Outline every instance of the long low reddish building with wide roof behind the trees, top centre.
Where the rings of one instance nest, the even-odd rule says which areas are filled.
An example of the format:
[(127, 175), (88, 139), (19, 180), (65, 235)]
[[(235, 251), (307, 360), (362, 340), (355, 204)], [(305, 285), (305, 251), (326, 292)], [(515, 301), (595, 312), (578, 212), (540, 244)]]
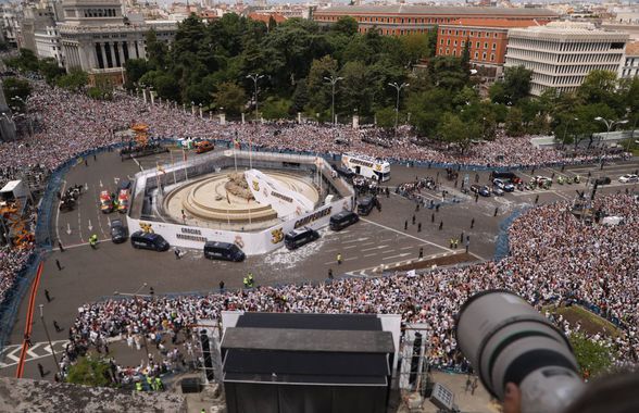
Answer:
[(429, 5), (335, 5), (317, 9), (313, 20), (320, 24), (334, 24), (343, 16), (358, 21), (359, 32), (375, 27), (383, 35), (401, 36), (426, 33), (437, 25), (451, 24), (460, 18), (492, 18), (505, 21), (551, 22), (559, 18), (555, 12), (546, 9), (524, 8), (468, 8)]

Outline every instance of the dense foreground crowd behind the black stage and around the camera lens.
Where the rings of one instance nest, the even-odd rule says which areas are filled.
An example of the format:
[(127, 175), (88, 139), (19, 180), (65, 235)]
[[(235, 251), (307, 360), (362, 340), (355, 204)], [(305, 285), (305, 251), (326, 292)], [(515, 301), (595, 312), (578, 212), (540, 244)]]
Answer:
[[(430, 362), (456, 368), (463, 358), (453, 336), (454, 315), (473, 293), (489, 288), (515, 291), (538, 309), (549, 303), (596, 306), (621, 326), (605, 340), (618, 363), (636, 363), (639, 350), (639, 202), (630, 196), (601, 197), (596, 208), (625, 224), (589, 225), (568, 202), (530, 210), (510, 229), (511, 254), (500, 262), (443, 268), (409, 277), (342, 278), (320, 285), (259, 287), (206, 297), (134, 299), (88, 303), (80, 309), (78, 337), (158, 334), (218, 318), (224, 310), (311, 313), (398, 313), (423, 323)], [(569, 330), (563, 320), (557, 325)]]

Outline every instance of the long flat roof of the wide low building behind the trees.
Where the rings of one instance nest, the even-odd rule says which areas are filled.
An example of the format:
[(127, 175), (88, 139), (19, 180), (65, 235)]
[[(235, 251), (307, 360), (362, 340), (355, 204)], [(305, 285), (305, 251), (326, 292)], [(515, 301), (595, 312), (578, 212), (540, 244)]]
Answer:
[(437, 7), (437, 5), (334, 5), (318, 9), (320, 13), (335, 14), (428, 14), (428, 15), (453, 15), (453, 16), (481, 16), (494, 17), (499, 15), (511, 16), (536, 16), (536, 17), (559, 17), (559, 14), (548, 9), (524, 9), (524, 8), (469, 8), (469, 7)]

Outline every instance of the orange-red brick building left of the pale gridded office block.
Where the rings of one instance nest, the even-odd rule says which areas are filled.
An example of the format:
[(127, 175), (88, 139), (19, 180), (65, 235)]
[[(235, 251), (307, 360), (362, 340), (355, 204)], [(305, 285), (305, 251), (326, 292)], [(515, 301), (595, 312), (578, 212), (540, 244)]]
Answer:
[(501, 76), (509, 28), (546, 24), (536, 20), (459, 18), (437, 28), (436, 55), (462, 57), (468, 45), (471, 65), (483, 77)]

